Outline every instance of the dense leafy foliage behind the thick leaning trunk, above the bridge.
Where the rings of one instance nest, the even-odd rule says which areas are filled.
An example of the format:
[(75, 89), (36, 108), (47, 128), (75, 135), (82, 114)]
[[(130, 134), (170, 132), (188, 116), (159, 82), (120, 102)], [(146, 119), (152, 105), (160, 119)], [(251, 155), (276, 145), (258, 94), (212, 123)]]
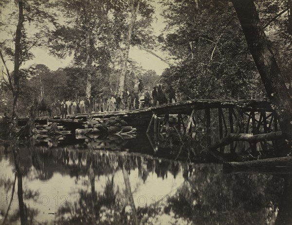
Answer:
[[(287, 7), (287, 1), (281, 2), (277, 4), (277, 1), (270, 0), (258, 3), (262, 9), (263, 23)], [(216, 1), (214, 4), (212, 1), (169, 0), (162, 3), (166, 27), (159, 40), (163, 44), (162, 50), (170, 52), (170, 59), (177, 61), (176, 66), (164, 72), (164, 82), (175, 85), (185, 99), (186, 96), (221, 99), (265, 97), (230, 2)], [(268, 36), (274, 39), (279, 66), (288, 79), (291, 77), (287, 73), (291, 71), (291, 51), (286, 51), (289, 46), (287, 18), (280, 21)]]

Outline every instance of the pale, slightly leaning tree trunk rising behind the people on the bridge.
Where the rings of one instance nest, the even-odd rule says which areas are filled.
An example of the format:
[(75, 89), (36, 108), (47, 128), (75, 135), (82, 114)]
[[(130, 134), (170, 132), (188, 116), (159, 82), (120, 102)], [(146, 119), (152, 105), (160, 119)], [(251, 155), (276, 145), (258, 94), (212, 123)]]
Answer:
[(134, 6), (134, 0), (131, 0), (131, 20), (128, 26), (128, 36), (127, 40), (125, 42), (125, 50), (123, 52), (123, 58), (122, 58), (122, 69), (121, 69), (121, 77), (120, 77), (120, 86), (119, 86), (119, 95), (122, 97), (124, 92), (124, 86), (125, 86), (125, 78), (127, 73), (127, 62), (128, 62), (128, 56), (129, 56), (129, 50), (130, 50), (130, 44), (131, 44), (131, 36), (133, 27), (137, 18), (137, 15), (139, 13), (140, 3), (142, 0), (138, 0), (137, 6)]

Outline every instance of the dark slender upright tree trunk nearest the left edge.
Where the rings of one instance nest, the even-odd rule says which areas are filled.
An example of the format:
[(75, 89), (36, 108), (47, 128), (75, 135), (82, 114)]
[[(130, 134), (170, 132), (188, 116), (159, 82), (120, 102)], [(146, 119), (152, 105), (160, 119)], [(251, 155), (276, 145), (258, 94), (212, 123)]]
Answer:
[(16, 118), (16, 124), (18, 124), (18, 98), (19, 98), (19, 67), (20, 67), (20, 39), (21, 39), (21, 28), (24, 22), (23, 16), (23, 2), (18, 0), (18, 24), (15, 35), (15, 59), (14, 59), (14, 88), (13, 88), (13, 112), (12, 117)]

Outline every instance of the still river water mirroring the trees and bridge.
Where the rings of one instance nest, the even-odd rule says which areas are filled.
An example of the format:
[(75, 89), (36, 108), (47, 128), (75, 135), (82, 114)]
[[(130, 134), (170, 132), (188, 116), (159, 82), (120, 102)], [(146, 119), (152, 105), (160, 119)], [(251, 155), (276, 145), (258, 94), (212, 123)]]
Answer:
[(141, 132), (132, 139), (66, 136), (4, 143), (0, 224), (291, 221), (291, 174), (223, 173), (199, 147), (172, 139)]

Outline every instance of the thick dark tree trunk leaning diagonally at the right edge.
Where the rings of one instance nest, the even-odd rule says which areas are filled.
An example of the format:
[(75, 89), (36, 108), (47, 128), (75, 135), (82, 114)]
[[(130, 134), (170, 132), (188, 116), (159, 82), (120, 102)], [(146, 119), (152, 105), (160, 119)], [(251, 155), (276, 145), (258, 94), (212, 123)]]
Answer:
[(283, 133), (292, 135), (292, 101), (252, 0), (232, 0), (248, 48), (267, 94), (276, 110)]

